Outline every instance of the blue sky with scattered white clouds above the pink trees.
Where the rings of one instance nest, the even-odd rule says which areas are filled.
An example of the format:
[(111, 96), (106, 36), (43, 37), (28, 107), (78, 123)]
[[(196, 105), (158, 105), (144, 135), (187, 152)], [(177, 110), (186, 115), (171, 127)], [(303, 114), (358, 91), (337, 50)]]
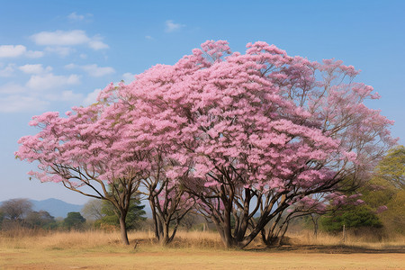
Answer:
[(174, 64), (205, 40), (233, 51), (257, 40), (311, 60), (341, 59), (382, 99), (367, 103), (405, 138), (405, 1), (0, 0), (0, 201), (84, 203), (58, 184), (28, 180), (14, 159), (32, 115), (92, 103), (99, 89), (156, 64)]

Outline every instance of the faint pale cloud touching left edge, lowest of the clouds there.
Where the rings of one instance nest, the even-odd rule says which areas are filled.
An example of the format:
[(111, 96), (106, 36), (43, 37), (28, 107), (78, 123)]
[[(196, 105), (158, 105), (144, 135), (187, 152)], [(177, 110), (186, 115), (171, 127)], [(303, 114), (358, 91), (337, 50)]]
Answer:
[(48, 104), (35, 96), (9, 95), (0, 97), (0, 112), (42, 111)]

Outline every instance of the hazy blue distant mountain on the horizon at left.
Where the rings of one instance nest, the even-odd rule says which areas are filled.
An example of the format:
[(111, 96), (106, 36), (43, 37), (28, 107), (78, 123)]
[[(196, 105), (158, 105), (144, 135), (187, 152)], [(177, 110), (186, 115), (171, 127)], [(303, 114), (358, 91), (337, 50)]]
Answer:
[(81, 211), (83, 205), (72, 204), (60, 201), (58, 199), (47, 199), (43, 201), (30, 200), (33, 211), (48, 211), (55, 218), (66, 218), (69, 211)]

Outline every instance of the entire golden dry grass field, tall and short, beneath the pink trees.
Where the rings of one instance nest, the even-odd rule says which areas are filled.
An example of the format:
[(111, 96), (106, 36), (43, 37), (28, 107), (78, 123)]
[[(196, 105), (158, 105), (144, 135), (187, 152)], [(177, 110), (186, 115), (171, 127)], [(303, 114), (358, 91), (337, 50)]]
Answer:
[[(310, 234), (292, 244), (245, 250), (223, 248), (214, 232), (182, 232), (169, 247), (150, 232), (130, 233), (130, 247), (117, 232), (14, 231), (0, 235), (0, 269), (405, 269), (405, 238), (369, 242)], [(135, 243), (137, 247), (134, 248)]]

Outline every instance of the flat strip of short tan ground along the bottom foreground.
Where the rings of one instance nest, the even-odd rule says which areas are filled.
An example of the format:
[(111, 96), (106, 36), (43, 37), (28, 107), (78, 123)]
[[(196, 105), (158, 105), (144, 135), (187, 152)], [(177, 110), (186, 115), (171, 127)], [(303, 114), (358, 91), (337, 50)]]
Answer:
[(405, 269), (403, 250), (0, 250), (4, 269)]

